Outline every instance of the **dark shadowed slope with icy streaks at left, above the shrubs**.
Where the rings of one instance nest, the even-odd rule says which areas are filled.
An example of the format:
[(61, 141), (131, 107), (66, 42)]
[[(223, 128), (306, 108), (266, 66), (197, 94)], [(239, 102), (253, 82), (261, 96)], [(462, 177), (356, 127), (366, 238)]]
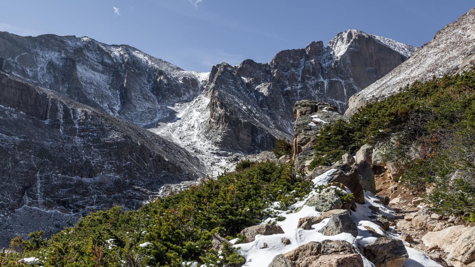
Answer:
[(90, 210), (138, 208), (203, 169), (146, 129), (0, 71), (0, 247)]

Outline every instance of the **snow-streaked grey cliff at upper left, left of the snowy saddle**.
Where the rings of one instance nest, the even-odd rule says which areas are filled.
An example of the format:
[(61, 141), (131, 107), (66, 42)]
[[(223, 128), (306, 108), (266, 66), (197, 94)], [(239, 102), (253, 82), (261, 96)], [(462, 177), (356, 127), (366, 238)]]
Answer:
[(87, 37), (0, 32), (0, 51), (3, 71), (147, 128), (201, 92), (199, 73)]

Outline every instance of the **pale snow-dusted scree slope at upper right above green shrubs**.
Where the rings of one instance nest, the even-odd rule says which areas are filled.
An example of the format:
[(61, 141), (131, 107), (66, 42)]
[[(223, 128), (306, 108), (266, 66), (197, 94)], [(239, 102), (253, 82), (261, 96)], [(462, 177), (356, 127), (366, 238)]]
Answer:
[(350, 98), (345, 115), (350, 116), (369, 101), (383, 99), (416, 80), (453, 74), (475, 60), (475, 8), (439, 30), (434, 39), (407, 61)]

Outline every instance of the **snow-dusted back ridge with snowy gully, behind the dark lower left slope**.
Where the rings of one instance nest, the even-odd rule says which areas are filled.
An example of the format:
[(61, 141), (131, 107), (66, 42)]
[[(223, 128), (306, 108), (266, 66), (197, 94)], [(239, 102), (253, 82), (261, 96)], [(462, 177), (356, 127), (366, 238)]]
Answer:
[(184, 71), (126, 45), (91, 38), (0, 33), (1, 69), (179, 144), (223, 171), (242, 154), (292, 138), (293, 105), (316, 99), (346, 109), (348, 98), (415, 50), (359, 30), (327, 45), (279, 52), (270, 63), (219, 64)]

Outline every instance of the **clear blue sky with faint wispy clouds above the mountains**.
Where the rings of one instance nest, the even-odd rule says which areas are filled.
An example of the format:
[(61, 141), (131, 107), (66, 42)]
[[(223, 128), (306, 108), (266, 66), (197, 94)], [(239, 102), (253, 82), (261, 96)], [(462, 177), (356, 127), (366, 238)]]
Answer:
[(269, 62), (345, 29), (421, 46), (473, 0), (3, 0), (0, 30), (128, 44), (186, 70)]

